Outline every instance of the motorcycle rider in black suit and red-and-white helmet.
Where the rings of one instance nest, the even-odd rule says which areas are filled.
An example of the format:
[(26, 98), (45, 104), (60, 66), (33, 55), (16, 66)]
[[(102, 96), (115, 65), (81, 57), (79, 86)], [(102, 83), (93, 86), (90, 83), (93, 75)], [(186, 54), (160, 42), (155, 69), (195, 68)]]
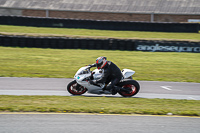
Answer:
[(97, 83), (105, 83), (109, 84), (105, 88), (106, 90), (110, 90), (112, 95), (115, 95), (120, 87), (117, 87), (116, 84), (122, 79), (121, 70), (111, 61), (107, 61), (107, 58), (102, 56), (96, 59), (96, 63), (90, 65), (91, 67), (97, 67), (97, 69), (103, 69), (102, 77), (98, 80), (90, 80), (90, 84), (97, 84)]

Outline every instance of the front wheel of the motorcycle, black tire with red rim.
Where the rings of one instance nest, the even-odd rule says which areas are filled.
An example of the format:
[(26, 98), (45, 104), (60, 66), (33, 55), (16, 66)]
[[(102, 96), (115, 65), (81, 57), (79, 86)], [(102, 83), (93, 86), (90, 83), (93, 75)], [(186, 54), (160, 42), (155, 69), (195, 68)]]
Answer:
[(87, 91), (87, 88), (77, 84), (74, 80), (67, 85), (67, 91), (72, 95), (82, 95)]

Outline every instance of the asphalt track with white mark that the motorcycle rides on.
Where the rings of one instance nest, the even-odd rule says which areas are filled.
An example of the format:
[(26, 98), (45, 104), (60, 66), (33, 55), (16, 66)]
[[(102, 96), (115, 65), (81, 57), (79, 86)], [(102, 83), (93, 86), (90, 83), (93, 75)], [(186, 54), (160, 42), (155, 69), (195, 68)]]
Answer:
[[(0, 95), (58, 95), (71, 96), (66, 91), (73, 79), (0, 77)], [(139, 98), (200, 100), (200, 83), (138, 81)], [(111, 96), (85, 93), (84, 96)]]

